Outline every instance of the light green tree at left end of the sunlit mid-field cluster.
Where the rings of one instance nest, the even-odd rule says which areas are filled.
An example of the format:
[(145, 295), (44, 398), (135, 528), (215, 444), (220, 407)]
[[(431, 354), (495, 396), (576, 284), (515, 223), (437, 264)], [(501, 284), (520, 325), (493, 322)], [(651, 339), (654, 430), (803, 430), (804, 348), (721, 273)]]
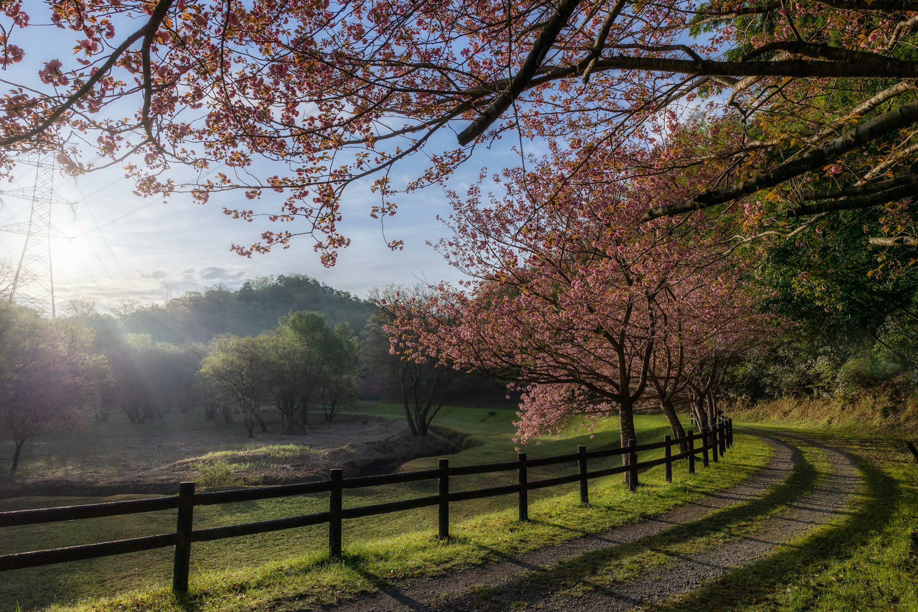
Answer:
[(271, 391), (274, 361), (264, 336), (222, 336), (214, 339), (212, 350), (201, 362), (201, 373), (231, 397), (242, 415), (249, 438), (254, 438), (255, 422), (267, 431), (259, 414)]

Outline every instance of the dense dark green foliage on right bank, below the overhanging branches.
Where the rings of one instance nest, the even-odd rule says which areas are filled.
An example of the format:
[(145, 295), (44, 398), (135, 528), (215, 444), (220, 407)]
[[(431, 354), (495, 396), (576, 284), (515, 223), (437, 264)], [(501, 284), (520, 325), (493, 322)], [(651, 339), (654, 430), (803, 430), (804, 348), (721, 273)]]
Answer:
[(784, 330), (733, 366), (728, 394), (850, 396), (913, 370), (918, 269), (878, 267), (865, 228), (880, 215), (842, 211), (820, 220), (817, 232), (765, 250), (756, 274), (762, 308), (782, 317)]

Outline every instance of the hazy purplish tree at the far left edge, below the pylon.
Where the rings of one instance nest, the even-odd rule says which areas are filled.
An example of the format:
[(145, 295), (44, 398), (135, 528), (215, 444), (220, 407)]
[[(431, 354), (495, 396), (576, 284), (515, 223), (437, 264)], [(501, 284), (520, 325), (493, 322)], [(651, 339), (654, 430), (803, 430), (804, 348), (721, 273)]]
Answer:
[(0, 306), (0, 428), (14, 445), (11, 474), (28, 440), (73, 428), (104, 394), (108, 364), (91, 347), (92, 330), (78, 322)]

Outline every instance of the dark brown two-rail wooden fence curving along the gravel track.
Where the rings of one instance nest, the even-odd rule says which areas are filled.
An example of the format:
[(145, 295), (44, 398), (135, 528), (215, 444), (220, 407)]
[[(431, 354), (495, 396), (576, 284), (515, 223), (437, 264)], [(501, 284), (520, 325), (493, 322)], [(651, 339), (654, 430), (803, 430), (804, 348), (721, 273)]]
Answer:
[[(700, 442), (698, 448), (695, 441)], [(688, 451), (673, 454), (672, 447), (687, 443)], [(544, 457), (542, 459), (527, 459), (526, 453), (517, 455), (517, 461), (504, 463), (487, 463), (481, 465), (464, 465), (450, 467), (448, 459), (441, 459), (439, 467), (435, 470), (422, 470), (420, 472), (392, 473), (379, 476), (359, 476), (355, 478), (342, 478), (341, 469), (330, 470), (329, 479), (314, 483), (282, 484), (278, 486), (263, 486), (251, 489), (233, 491), (218, 491), (212, 493), (195, 493), (194, 483), (182, 483), (178, 487), (178, 495), (168, 497), (154, 497), (152, 499), (139, 499), (129, 502), (111, 502), (107, 504), (89, 504), (85, 506), (64, 506), (56, 508), (40, 508), (36, 510), (17, 510), (13, 512), (0, 512), (0, 527), (13, 527), (17, 525), (37, 525), (39, 523), (52, 523), (78, 518), (114, 517), (125, 514), (138, 514), (141, 512), (155, 512), (157, 510), (178, 509), (175, 532), (163, 533), (158, 536), (143, 538), (130, 538), (100, 542), (97, 544), (83, 544), (67, 548), (51, 549), (47, 551), (17, 552), (0, 556), (0, 571), (16, 570), (53, 563), (79, 561), (82, 559), (95, 559), (126, 552), (150, 551), (169, 546), (175, 547), (173, 565), (173, 590), (185, 593), (188, 590), (188, 570), (191, 562), (191, 545), (193, 542), (209, 540), (222, 540), (224, 538), (238, 538), (255, 533), (266, 533), (279, 529), (292, 529), (307, 525), (329, 524), (329, 552), (332, 557), (341, 555), (341, 524), (345, 518), (369, 517), (372, 515), (387, 514), (412, 508), (426, 506), (439, 506), (439, 536), (448, 538), (450, 533), (450, 503), (461, 502), (468, 499), (493, 497), (496, 495), (519, 495), (520, 520), (528, 520), (529, 502), (528, 492), (533, 489), (542, 489), (559, 484), (580, 483), (580, 502), (588, 504), (588, 481), (591, 478), (600, 478), (615, 473), (628, 473), (628, 484), (632, 491), (638, 486), (638, 471), (656, 465), (666, 465), (666, 481), (672, 482), (673, 462), (680, 459), (689, 460), (689, 473), (695, 473), (696, 455), (701, 456), (701, 461), (707, 467), (709, 451), (711, 459), (716, 462), (723, 456), (724, 451), (733, 445), (733, 420), (724, 419), (717, 423), (710, 431), (701, 430), (696, 436), (692, 431), (685, 438), (671, 440), (665, 436), (662, 442), (650, 444), (637, 444), (630, 440), (628, 446), (621, 449), (606, 451), (587, 451), (587, 447), (577, 447), (577, 452), (569, 455)], [(665, 456), (653, 461), (639, 462), (638, 453), (664, 449)], [(588, 471), (588, 461), (615, 455), (628, 455), (628, 461), (622, 465), (603, 470)], [(622, 457), (622, 460), (624, 457)], [(556, 463), (577, 462), (577, 473), (530, 481), (528, 469)], [(450, 476), (462, 476), (477, 473), (497, 473), (515, 470), (518, 474), (518, 484), (492, 486), (484, 489), (450, 493)], [(438, 480), (437, 495), (418, 497), (397, 502), (386, 502), (372, 506), (359, 506), (343, 508), (341, 497), (344, 489), (355, 489), (367, 486), (380, 486), (383, 484), (412, 483), (422, 480)], [(214, 527), (208, 529), (194, 529), (195, 506), (211, 506), (214, 504), (229, 504), (257, 499), (271, 499), (273, 497), (287, 497), (291, 495), (306, 495), (328, 492), (329, 510), (315, 514), (301, 515), (298, 517), (275, 518), (254, 523), (242, 523), (227, 527)]]

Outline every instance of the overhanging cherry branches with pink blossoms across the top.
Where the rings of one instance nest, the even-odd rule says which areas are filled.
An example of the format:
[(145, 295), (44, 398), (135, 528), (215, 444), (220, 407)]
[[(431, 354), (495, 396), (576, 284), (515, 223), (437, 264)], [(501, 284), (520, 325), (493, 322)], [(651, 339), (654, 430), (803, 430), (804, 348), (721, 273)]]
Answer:
[[(754, 222), (751, 236), (787, 235), (839, 209), (899, 202), (915, 184), (910, 0), (0, 8), (0, 63), (11, 73), (3, 172), (15, 172), (18, 154), (50, 150), (74, 175), (126, 167), (140, 195), (270, 199), (258, 211), (225, 210), (281, 224), (237, 245), (242, 254), (311, 234), (331, 264), (348, 244), (340, 202), (354, 182), (374, 182), (371, 212), (385, 217), (398, 192), (442, 183), (476, 147), (504, 136), (589, 156), (652, 138), (642, 133), (649, 119), (692, 108), (711, 116), (690, 134), (697, 150), (648, 161), (648, 172), (720, 172), (630, 222), (717, 206)], [(73, 38), (72, 57), (48, 50), (50, 32)], [(399, 183), (391, 171), (421, 152), (424, 163)], [(297, 219), (305, 223), (285, 225)], [(877, 238), (888, 248), (907, 241)]]

